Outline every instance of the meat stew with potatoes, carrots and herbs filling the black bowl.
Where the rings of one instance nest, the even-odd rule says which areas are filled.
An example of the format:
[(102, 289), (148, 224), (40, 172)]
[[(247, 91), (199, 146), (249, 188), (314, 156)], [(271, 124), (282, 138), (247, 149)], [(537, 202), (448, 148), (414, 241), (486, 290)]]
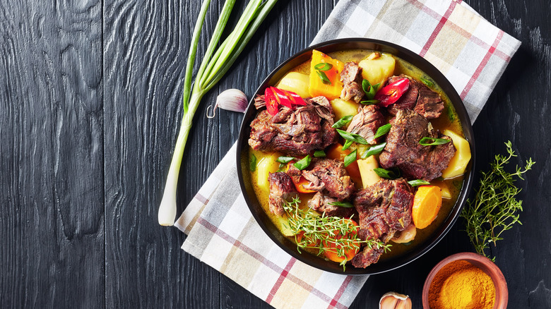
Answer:
[(254, 192), (299, 252), (365, 268), (420, 246), (451, 212), (469, 143), (411, 63), (314, 50), (254, 104)]

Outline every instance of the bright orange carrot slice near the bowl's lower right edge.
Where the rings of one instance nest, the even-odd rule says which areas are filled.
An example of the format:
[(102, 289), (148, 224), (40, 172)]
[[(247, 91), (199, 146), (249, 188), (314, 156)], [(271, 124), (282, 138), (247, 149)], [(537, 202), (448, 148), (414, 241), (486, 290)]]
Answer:
[(442, 207), (442, 193), (439, 186), (420, 186), (413, 199), (411, 217), (417, 229), (425, 229), (434, 219)]

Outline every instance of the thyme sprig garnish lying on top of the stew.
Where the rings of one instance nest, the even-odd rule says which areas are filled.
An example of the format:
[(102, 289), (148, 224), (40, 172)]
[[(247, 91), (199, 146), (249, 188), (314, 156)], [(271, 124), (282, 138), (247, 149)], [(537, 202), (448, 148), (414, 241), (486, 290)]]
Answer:
[[(295, 234), (299, 253), (301, 248), (317, 249), (317, 255), (323, 255), (326, 250), (336, 249), (339, 257), (345, 257), (346, 251), (359, 250), (362, 243), (369, 248), (373, 248), (372, 246), (384, 248), (384, 252), (390, 250), (391, 245), (377, 239), (360, 240), (357, 237), (359, 226), (352, 224), (349, 219), (328, 217), (325, 212), (320, 215), (309, 208), (302, 210), (298, 198), (284, 202), (283, 209), (289, 219), (288, 227), (292, 234)], [(350, 219), (352, 217), (353, 214)], [(340, 262), (343, 271), (346, 262), (346, 258)]]

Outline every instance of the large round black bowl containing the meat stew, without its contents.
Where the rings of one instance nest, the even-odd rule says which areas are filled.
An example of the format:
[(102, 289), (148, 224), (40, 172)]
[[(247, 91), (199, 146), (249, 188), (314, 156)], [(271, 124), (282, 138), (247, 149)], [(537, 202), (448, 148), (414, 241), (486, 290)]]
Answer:
[(251, 132), (251, 128), (249, 125), (256, 116), (256, 109), (254, 108), (253, 104), (254, 97), (259, 94), (262, 95), (266, 87), (270, 85), (275, 85), (275, 83), (283, 78), (285, 73), (287, 73), (291, 68), (294, 68), (300, 63), (304, 63), (304, 61), (309, 60), (312, 56), (312, 49), (319, 50), (320, 52), (324, 52), (326, 54), (331, 52), (338, 52), (341, 50), (368, 49), (386, 52), (398, 56), (399, 58), (412, 63), (414, 66), (417, 66), (417, 68), (420, 68), (422, 71), (427, 73), (427, 75), (429, 75), (442, 88), (442, 90), (446, 92), (446, 95), (448, 95), (452, 104), (454, 104), (457, 115), (461, 120), (461, 124), (463, 126), (463, 134), (465, 135), (466, 140), (468, 140), (470, 143), (470, 151), (472, 157), (470, 159), (469, 166), (467, 167), (468, 173), (465, 175), (465, 180), (463, 182), (461, 193), (459, 193), (459, 197), (449, 216), (445, 219), (444, 223), (442, 223), (442, 225), (439, 226), (436, 231), (434, 231), (434, 234), (427, 238), (425, 242), (422, 243), (422, 245), (415, 247), (415, 249), (413, 249), (412, 251), (393, 259), (381, 260), (376, 264), (369, 265), (369, 267), (365, 269), (349, 266), (346, 267), (344, 273), (378, 274), (406, 265), (409, 262), (417, 259), (421, 255), (427, 253), (428, 250), (430, 250), (442, 238), (444, 238), (446, 233), (451, 229), (451, 226), (454, 225), (457, 218), (459, 217), (459, 214), (461, 213), (463, 205), (467, 200), (467, 195), (473, 182), (475, 143), (473, 138), (473, 127), (470, 125), (469, 116), (465, 107), (463, 106), (461, 98), (457, 94), (456, 90), (454, 90), (454, 87), (452, 87), (451, 83), (449, 83), (449, 81), (444, 77), (442, 73), (440, 73), (440, 71), (438, 71), (437, 68), (432, 66), (432, 64), (423, 59), (421, 56), (415, 54), (414, 52), (411, 52), (408, 49), (405, 49), (404, 47), (400, 47), (389, 42), (363, 38), (328, 41), (316, 44), (312, 47), (308, 47), (302, 52), (295, 54), (295, 56), (292, 56), (287, 61), (281, 63), (280, 66), (275, 68), (275, 70), (273, 70), (273, 72), (268, 75), (268, 77), (260, 85), (259, 89), (256, 90), (256, 93), (251, 98), (251, 102), (249, 102), (249, 107), (247, 108), (247, 111), (245, 111), (245, 116), (241, 125), (239, 140), (237, 141), (237, 174), (239, 174), (239, 184), (241, 186), (244, 198), (247, 201), (247, 205), (249, 205), (249, 209), (256, 219), (256, 222), (258, 222), (261, 228), (266, 232), (266, 234), (268, 234), (268, 236), (287, 253), (289, 253), (293, 257), (296, 257), (297, 260), (300, 260), (312, 267), (316, 267), (328, 272), (343, 274), (343, 267), (338, 265), (338, 263), (326, 261), (321, 257), (317, 257), (315, 255), (311, 255), (305, 252), (300, 254), (297, 251), (297, 246), (295, 245), (295, 243), (292, 243), (292, 241), (289, 241), (287, 238), (285, 238), (285, 236), (280, 234), (278, 229), (274, 226), (274, 224), (271, 222), (271, 220), (259, 204), (259, 200), (256, 198), (253, 187), (251, 185), (251, 176), (249, 174), (249, 144), (247, 141)]

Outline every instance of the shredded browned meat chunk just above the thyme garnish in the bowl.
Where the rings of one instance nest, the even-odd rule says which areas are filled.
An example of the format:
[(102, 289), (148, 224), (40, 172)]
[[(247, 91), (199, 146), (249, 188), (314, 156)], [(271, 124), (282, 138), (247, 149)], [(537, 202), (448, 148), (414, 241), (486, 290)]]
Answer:
[(309, 169), (302, 171), (302, 176), (311, 182), (304, 188), (321, 191), (339, 201), (348, 198), (355, 189), (343, 162), (333, 159), (314, 158)]

